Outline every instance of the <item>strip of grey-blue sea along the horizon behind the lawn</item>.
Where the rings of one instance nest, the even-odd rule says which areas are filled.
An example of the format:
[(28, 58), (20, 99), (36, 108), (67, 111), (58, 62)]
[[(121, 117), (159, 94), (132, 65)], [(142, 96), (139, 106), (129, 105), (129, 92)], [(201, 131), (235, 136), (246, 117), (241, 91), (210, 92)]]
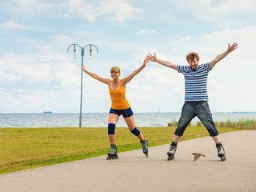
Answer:
[[(134, 113), (135, 124), (138, 127), (167, 126), (170, 122), (178, 122), (181, 113)], [(232, 112), (213, 113), (214, 122), (236, 122), (238, 120), (256, 119), (256, 112)], [(196, 117), (192, 120), (192, 126), (199, 122)], [(107, 127), (108, 113), (84, 113), (82, 114), (82, 127)], [(76, 113), (48, 113), (48, 114), (1, 114), (1, 127), (78, 127), (79, 114)], [(126, 122), (119, 118), (117, 126), (127, 127)]]

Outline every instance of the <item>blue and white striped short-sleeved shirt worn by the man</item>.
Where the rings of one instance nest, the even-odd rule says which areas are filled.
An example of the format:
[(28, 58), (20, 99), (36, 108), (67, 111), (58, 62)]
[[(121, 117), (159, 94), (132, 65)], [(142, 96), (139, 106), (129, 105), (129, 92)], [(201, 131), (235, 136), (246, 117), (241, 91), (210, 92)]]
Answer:
[(198, 65), (197, 70), (190, 66), (178, 66), (178, 73), (185, 78), (185, 101), (208, 101), (207, 78), (210, 71), (210, 62)]

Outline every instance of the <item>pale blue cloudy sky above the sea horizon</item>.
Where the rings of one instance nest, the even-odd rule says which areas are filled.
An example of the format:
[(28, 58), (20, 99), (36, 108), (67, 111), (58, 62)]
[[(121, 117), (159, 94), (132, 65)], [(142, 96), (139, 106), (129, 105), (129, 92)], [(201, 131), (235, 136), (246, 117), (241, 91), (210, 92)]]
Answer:
[[(110, 78), (119, 66), (125, 78), (147, 54), (188, 65), (194, 51), (202, 64), (237, 42), (210, 70), (210, 110), (256, 111), (254, 0), (0, 0), (0, 16), (0, 113), (79, 113), (73, 43), (97, 46), (94, 59), (84, 57), (87, 70)], [(109, 112), (108, 86), (82, 78), (82, 112)], [(184, 94), (183, 75), (155, 62), (126, 85), (134, 113), (180, 112)]]

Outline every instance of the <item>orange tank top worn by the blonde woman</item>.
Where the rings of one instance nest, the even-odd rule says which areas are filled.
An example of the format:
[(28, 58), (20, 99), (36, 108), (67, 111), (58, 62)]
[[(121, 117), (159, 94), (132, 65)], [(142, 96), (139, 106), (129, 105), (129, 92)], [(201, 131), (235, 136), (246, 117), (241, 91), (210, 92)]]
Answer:
[[(112, 82), (110, 82), (111, 84)], [(120, 86), (118, 90), (111, 90), (109, 85), (110, 98), (111, 98), (111, 108), (114, 110), (126, 110), (130, 108), (130, 104), (126, 99), (126, 89)]]

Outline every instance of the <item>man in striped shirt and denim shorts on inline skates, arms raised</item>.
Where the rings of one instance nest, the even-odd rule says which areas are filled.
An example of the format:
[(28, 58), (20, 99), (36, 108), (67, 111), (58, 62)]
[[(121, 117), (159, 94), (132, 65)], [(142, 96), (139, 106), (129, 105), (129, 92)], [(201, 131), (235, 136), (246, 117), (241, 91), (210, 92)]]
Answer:
[(214, 68), (217, 62), (225, 58), (233, 50), (237, 49), (238, 44), (234, 42), (232, 46), (228, 45), (228, 49), (219, 54), (214, 60), (206, 64), (198, 65), (198, 54), (191, 52), (186, 56), (186, 61), (189, 66), (178, 66), (172, 62), (163, 61), (154, 55), (149, 54), (150, 61), (158, 62), (162, 66), (170, 67), (182, 73), (185, 78), (185, 103), (182, 107), (181, 118), (178, 121), (178, 127), (175, 130), (173, 142), (170, 144), (170, 150), (167, 152), (168, 160), (174, 159), (174, 154), (177, 149), (179, 139), (182, 137), (186, 126), (189, 125), (191, 120), (197, 116), (200, 121), (206, 126), (210, 136), (214, 139), (218, 150), (218, 157), (222, 161), (226, 160), (225, 151), (222, 142), (218, 135), (218, 130), (214, 126), (212, 114), (210, 113), (208, 105), (207, 94), (207, 77), (210, 70)]

